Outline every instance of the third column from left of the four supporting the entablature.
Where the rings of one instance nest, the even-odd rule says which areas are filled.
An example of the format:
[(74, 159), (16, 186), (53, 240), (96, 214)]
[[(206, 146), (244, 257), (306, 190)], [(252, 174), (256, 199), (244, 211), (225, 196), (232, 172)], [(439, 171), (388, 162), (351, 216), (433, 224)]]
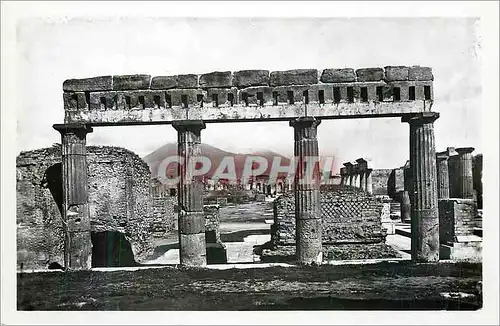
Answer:
[[(314, 168), (312, 176), (307, 175), (306, 158), (318, 159), (317, 127), (319, 120), (312, 117), (290, 121), (294, 128), (294, 154), (298, 160), (295, 174), (295, 224), (297, 262), (299, 264), (321, 263), (322, 225), (319, 199), (320, 170)], [(311, 164), (311, 163), (307, 163)]]

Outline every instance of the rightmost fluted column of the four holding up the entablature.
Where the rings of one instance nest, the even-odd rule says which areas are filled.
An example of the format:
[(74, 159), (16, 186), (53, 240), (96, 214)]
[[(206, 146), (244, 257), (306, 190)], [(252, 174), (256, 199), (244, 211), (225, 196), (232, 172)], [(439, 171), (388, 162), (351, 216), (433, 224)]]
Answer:
[(439, 215), (437, 200), (434, 121), (438, 113), (406, 115), (410, 124), (410, 167), (413, 175), (411, 205), (411, 257), (415, 262), (439, 261)]

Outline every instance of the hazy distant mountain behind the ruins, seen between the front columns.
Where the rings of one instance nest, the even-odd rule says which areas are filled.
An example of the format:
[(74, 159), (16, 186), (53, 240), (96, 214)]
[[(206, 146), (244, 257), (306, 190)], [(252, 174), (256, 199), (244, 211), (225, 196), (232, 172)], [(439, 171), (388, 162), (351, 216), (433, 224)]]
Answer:
[[(151, 174), (153, 176), (158, 176), (159, 175), (158, 168), (161, 165), (162, 161), (169, 156), (175, 156), (175, 155), (177, 155), (177, 143), (167, 143), (162, 147), (158, 148), (157, 150), (146, 155), (143, 159), (149, 165)], [(264, 157), (267, 160), (267, 169), (265, 172), (261, 173), (262, 175), (270, 174), (273, 160), (275, 157), (279, 157), (281, 159), (280, 165), (282, 166), (290, 165), (290, 158), (270, 150), (259, 150), (253, 153), (241, 154), (241, 153), (228, 152), (208, 144), (201, 144), (201, 155), (208, 157), (210, 162), (212, 163), (210, 170), (204, 175), (204, 177), (206, 178), (212, 178), (215, 171), (220, 166), (220, 163), (225, 157), (232, 157), (234, 159), (235, 171), (238, 178), (241, 178), (243, 174), (245, 161), (248, 156), (260, 156)], [(257, 168), (257, 166), (254, 166), (254, 168)], [(169, 164), (166, 168), (166, 176), (175, 177), (177, 175), (177, 169), (178, 169), (177, 164), (175, 163)], [(285, 176), (286, 173), (279, 174), (279, 177), (285, 177)]]

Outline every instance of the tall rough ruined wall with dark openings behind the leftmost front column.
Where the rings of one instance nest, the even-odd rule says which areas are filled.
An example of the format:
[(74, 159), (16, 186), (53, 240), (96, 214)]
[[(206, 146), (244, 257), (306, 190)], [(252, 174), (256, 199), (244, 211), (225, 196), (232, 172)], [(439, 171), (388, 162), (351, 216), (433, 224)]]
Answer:
[[(87, 162), (91, 231), (123, 233), (140, 262), (152, 249), (149, 167), (117, 147), (88, 146)], [(63, 265), (60, 163), (59, 146), (17, 157), (18, 265), (24, 268)]]

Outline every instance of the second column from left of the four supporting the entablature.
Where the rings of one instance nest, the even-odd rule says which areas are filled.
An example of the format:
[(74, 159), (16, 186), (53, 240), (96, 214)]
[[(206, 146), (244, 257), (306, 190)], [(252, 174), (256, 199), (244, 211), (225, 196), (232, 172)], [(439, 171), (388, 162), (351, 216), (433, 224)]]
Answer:
[(203, 190), (200, 180), (194, 178), (196, 164), (187, 164), (201, 154), (201, 130), (203, 121), (175, 121), (177, 130), (179, 164), (178, 207), (179, 207), (179, 252), (181, 265), (205, 266), (207, 264), (205, 245), (205, 217), (203, 214)]

